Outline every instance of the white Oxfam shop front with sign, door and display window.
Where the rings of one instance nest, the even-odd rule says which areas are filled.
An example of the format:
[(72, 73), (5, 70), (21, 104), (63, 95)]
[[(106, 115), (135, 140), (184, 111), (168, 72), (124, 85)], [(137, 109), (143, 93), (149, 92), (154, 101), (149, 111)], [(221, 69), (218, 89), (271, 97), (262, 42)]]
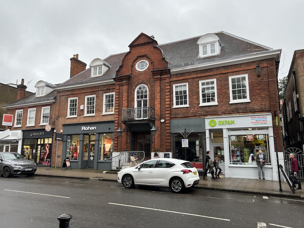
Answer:
[(219, 159), (225, 177), (258, 179), (255, 157), (262, 150), (266, 180), (278, 180), (270, 113), (207, 117), (205, 124), (206, 149)]

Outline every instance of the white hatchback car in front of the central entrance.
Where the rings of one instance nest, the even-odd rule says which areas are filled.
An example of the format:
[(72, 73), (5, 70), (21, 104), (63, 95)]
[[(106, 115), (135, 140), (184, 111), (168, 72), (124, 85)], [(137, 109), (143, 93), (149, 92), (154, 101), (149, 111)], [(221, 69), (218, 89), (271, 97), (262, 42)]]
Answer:
[(118, 172), (118, 183), (125, 188), (135, 185), (170, 187), (179, 193), (199, 183), (199, 173), (188, 161), (154, 158)]

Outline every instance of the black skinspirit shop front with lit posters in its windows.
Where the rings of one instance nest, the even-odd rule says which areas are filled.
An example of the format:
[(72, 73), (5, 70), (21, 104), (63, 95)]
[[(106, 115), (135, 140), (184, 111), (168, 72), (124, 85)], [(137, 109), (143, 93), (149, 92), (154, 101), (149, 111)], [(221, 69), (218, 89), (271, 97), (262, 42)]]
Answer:
[(54, 129), (23, 130), (22, 155), (40, 166), (50, 166)]

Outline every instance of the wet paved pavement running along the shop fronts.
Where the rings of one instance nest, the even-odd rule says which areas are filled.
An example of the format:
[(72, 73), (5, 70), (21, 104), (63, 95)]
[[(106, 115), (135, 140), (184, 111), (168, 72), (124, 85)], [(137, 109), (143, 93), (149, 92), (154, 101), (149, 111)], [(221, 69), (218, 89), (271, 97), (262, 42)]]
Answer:
[[(71, 169), (71, 168), (50, 168), (39, 166), (35, 176), (47, 176), (58, 178), (76, 178), (76, 179), (90, 179), (100, 181), (114, 181), (117, 182), (117, 173), (103, 173), (103, 170), (93, 170), (93, 168), (85, 169)], [(304, 191), (295, 191), (292, 193), (287, 182), (282, 182), (282, 192), (279, 190), (279, 181), (259, 181), (256, 179), (243, 179), (243, 178), (224, 178), (224, 175), (216, 180), (207, 177), (203, 180), (200, 176), (200, 182), (193, 188), (225, 191), (225, 192), (238, 192), (265, 196), (275, 197), (288, 197), (288, 198), (304, 198)], [(303, 184), (303, 182), (302, 182)]]

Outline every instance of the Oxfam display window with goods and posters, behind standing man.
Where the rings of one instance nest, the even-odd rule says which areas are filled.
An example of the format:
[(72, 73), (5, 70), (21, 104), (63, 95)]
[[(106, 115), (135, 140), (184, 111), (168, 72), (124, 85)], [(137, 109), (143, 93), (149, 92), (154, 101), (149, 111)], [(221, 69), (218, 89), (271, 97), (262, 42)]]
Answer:
[(268, 134), (244, 134), (229, 135), (230, 164), (233, 165), (254, 165), (252, 157), (256, 157), (259, 150), (267, 156), (268, 163), (271, 165), (269, 153)]

